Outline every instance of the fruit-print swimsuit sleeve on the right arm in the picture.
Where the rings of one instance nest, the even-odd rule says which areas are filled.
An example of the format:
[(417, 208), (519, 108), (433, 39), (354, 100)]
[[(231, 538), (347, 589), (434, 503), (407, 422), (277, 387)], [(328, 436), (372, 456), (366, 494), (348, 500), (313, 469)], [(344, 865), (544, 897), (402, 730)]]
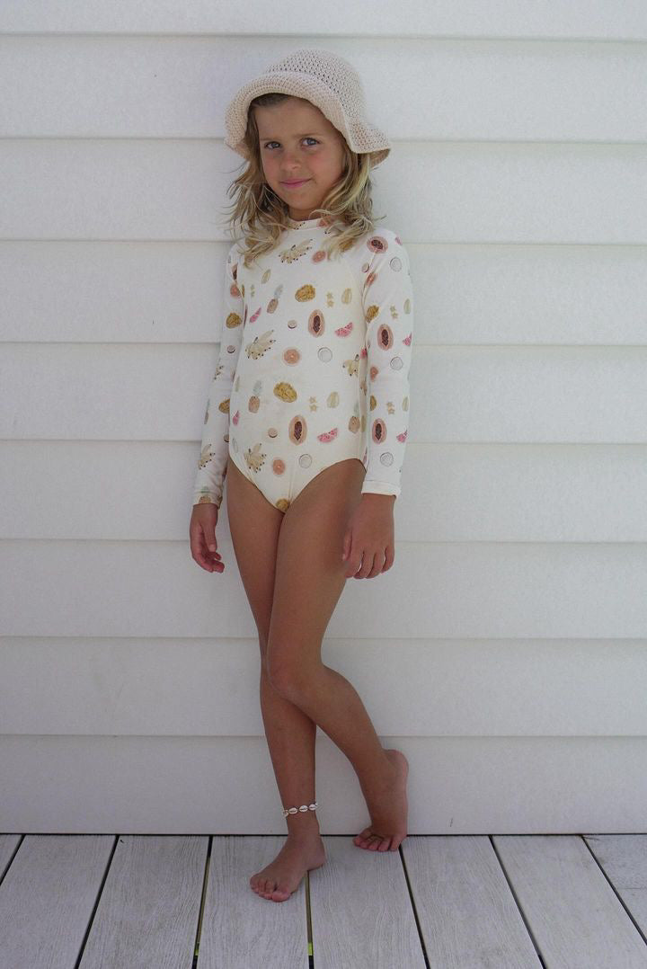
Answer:
[(397, 234), (378, 230), (362, 300), (366, 316), (367, 453), (362, 494), (400, 494), (409, 428), (414, 295), (409, 254)]

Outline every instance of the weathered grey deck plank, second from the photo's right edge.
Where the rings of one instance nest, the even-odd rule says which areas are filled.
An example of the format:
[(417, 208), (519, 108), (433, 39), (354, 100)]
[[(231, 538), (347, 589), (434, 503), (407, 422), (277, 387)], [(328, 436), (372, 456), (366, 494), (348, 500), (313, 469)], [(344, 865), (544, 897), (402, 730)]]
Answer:
[(493, 841), (550, 969), (646, 969), (647, 946), (578, 834)]

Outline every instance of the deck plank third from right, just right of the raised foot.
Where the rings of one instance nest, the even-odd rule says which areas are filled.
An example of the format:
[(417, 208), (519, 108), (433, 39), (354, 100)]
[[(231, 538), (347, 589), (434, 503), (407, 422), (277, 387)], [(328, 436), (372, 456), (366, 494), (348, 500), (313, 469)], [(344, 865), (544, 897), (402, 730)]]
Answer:
[(409, 835), (402, 854), (431, 966), (540, 969), (487, 836)]

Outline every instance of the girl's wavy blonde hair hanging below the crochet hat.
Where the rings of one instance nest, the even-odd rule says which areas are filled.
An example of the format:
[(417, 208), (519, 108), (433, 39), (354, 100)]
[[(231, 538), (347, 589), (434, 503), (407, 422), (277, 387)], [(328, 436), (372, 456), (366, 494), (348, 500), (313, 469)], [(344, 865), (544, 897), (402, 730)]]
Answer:
[[(289, 228), (290, 218), (288, 205), (265, 181), (254, 108), (276, 105), (290, 97), (292, 95), (277, 91), (261, 94), (250, 102), (247, 111), (247, 129), (243, 141), (249, 150), (249, 159), (243, 172), (234, 178), (228, 188), (228, 197), (234, 202), (229, 206), (232, 211), (226, 222), (232, 237), (235, 227), (242, 232), (246, 246), (243, 261), (247, 267), (263, 252), (274, 248), (282, 232)], [(345, 252), (358, 238), (375, 229), (370, 155), (357, 154), (341, 133), (340, 137), (345, 155), (344, 172), (324, 196), (321, 207), (313, 209), (315, 214), (310, 215), (313, 219), (318, 216), (325, 219), (331, 227), (330, 241), (324, 246), (328, 257)]]

